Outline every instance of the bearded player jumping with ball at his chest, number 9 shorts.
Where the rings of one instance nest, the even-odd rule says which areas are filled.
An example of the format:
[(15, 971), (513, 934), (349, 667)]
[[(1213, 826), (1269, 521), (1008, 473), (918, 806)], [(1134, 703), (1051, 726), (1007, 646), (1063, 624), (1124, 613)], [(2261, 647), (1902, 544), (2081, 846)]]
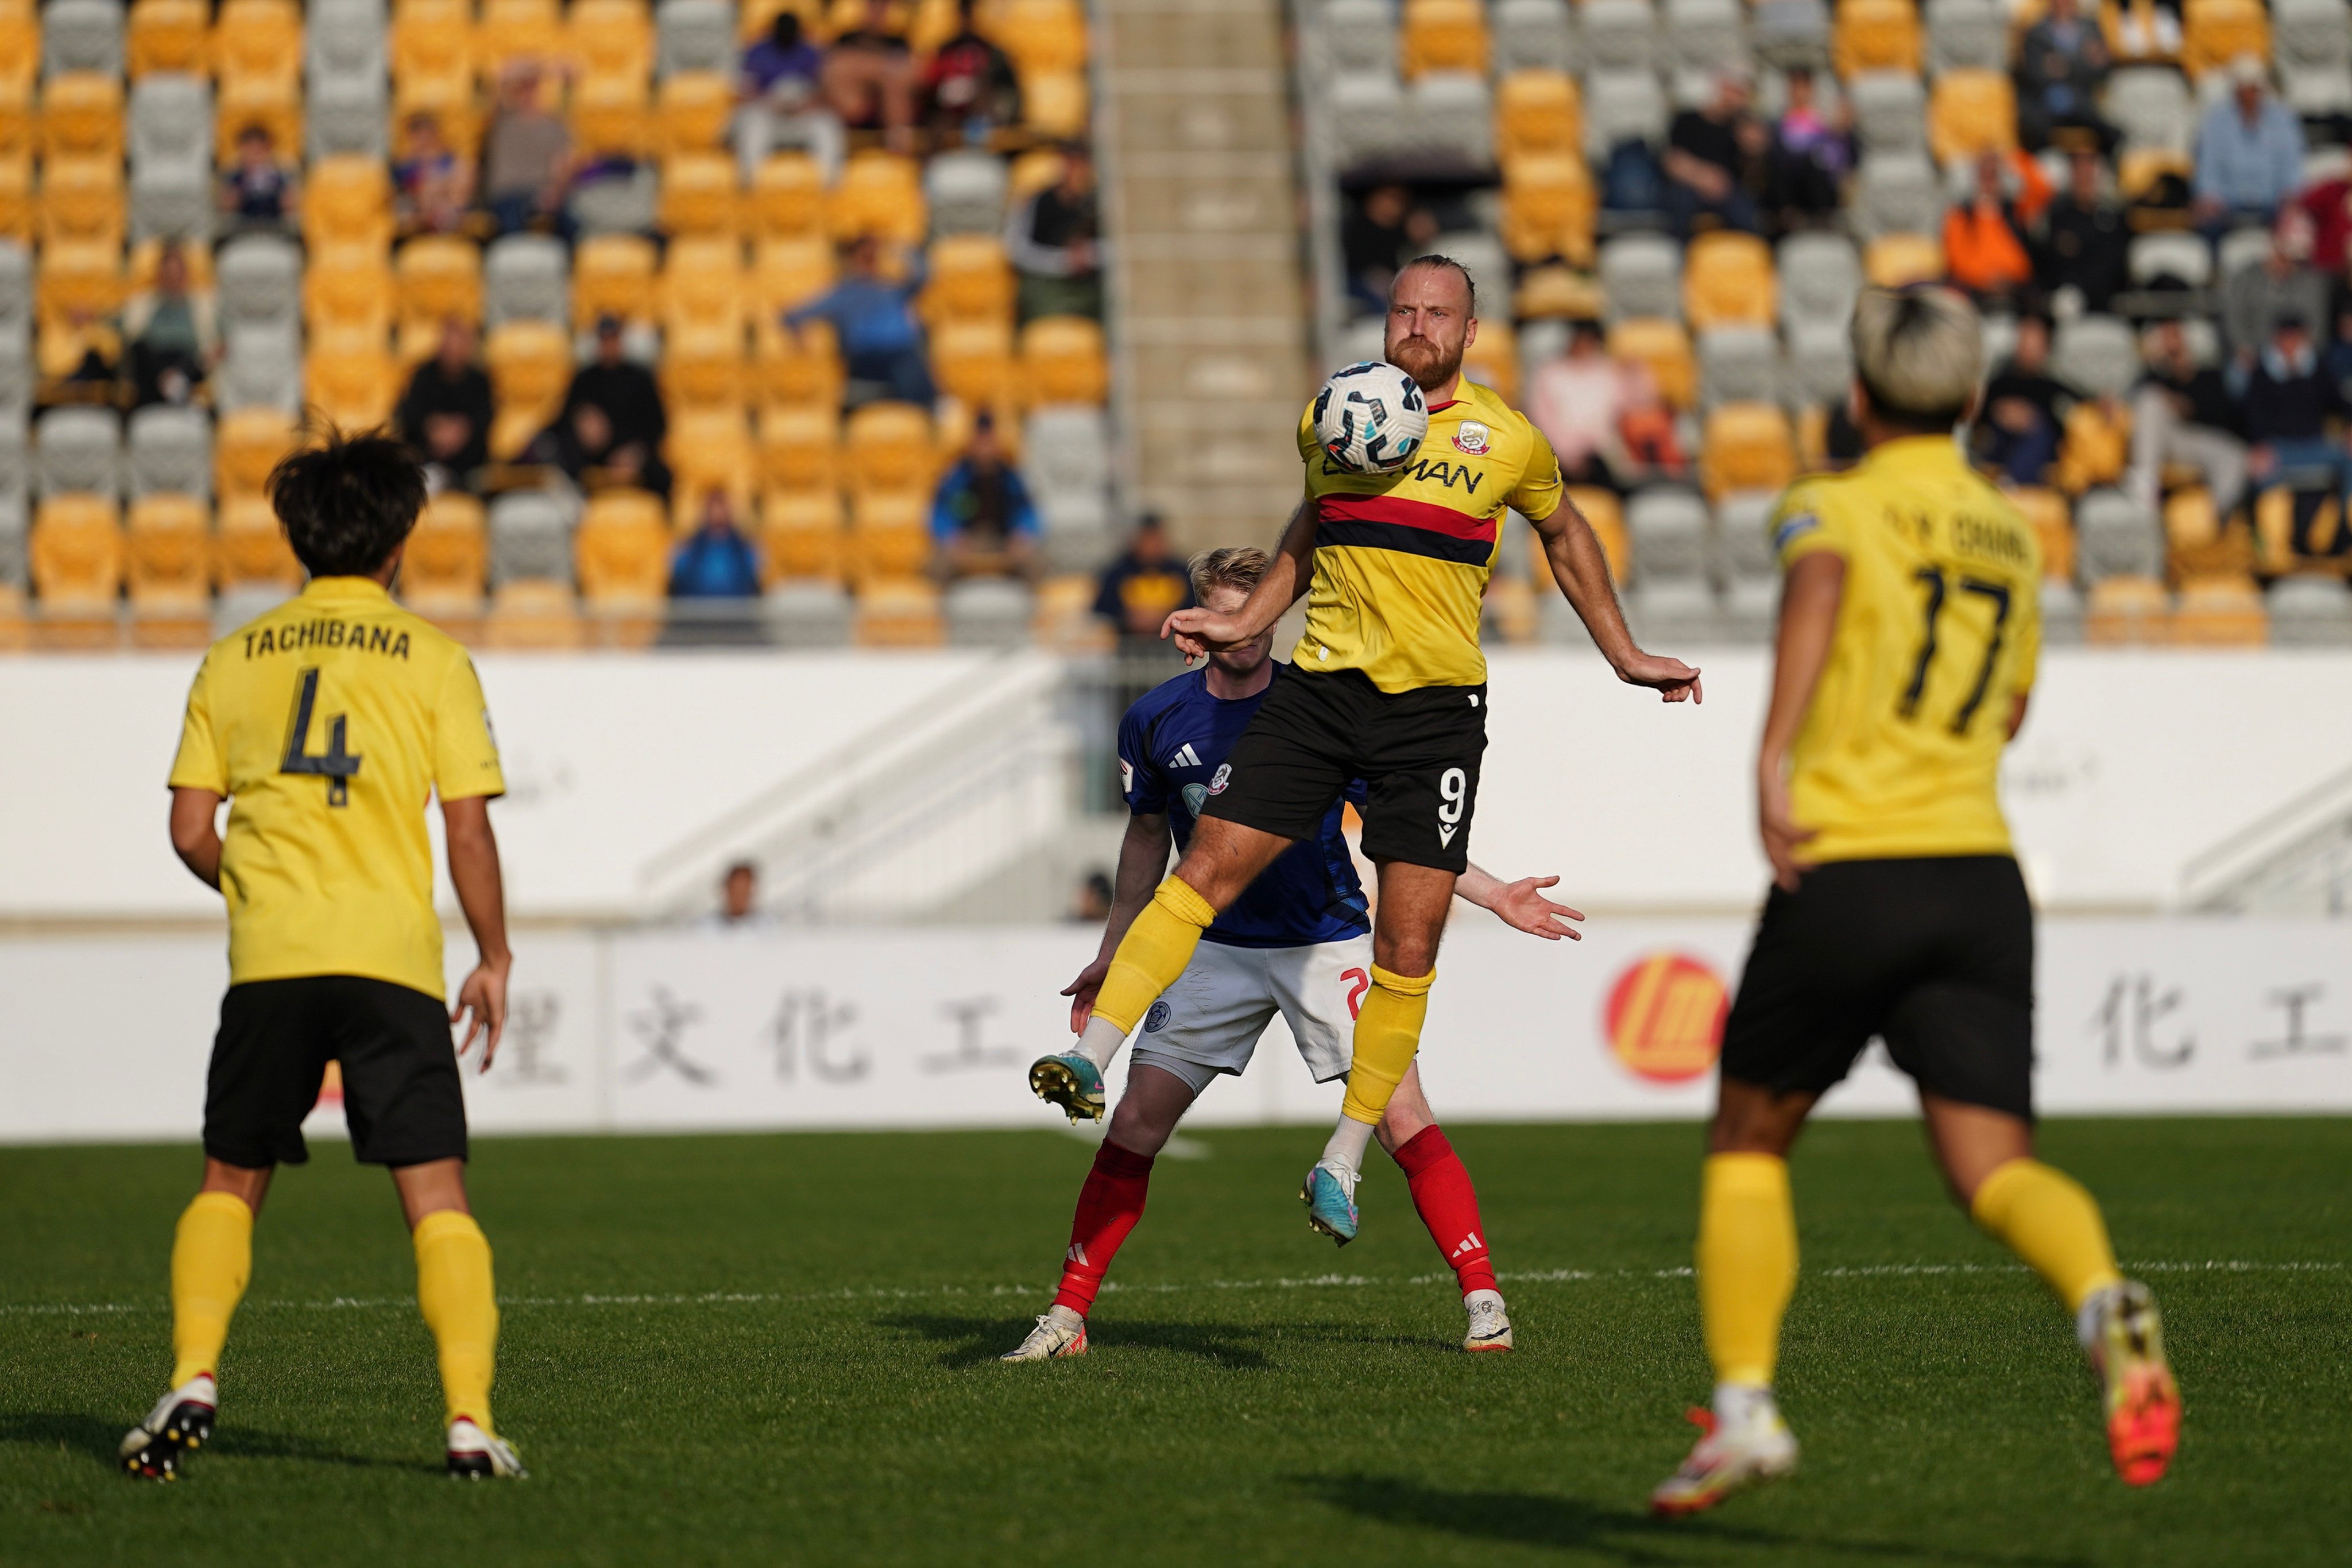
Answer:
[[(1338, 1244), (1357, 1229), (1355, 1182), (1388, 1100), (1414, 1065), (1454, 879), (1468, 865), (1479, 755), (1486, 750), (1486, 656), (1479, 607), (1505, 508), (1543, 536), (1559, 590), (1618, 677), (1668, 703), (1698, 701), (1698, 670), (1644, 654), (1625, 630), (1609, 562), (1562, 496), (1559, 461), (1524, 414), (1463, 378), (1477, 339), (1477, 289), (1446, 256), (1421, 256), (1388, 294), (1388, 360), (1421, 386), (1430, 433), (1421, 456), (1385, 475), (1341, 470), (1298, 425), (1305, 501), (1265, 576), (1237, 611), (1183, 609), (1164, 635), (1190, 658), (1240, 649), (1308, 595), (1308, 630), (1235, 741), (1176, 872), (1127, 929), (1077, 1048), (1030, 1067), (1040, 1098), (1101, 1105), (1101, 1072), (1183, 973), (1200, 933), (1357, 778), (1364, 856), (1381, 877), (1371, 992), (1355, 1018), (1348, 1098), (1301, 1197)], [(1101, 1114), (1098, 1110), (1089, 1114)]]

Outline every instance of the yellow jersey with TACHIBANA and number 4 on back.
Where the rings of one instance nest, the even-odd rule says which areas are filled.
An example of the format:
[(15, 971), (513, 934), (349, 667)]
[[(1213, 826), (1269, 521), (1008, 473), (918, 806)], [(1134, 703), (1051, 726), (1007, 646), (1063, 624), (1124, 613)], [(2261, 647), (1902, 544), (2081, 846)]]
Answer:
[(205, 654), (172, 785), (228, 797), (228, 983), (442, 997), (426, 799), (503, 795), (466, 649), (369, 578), (313, 578)]

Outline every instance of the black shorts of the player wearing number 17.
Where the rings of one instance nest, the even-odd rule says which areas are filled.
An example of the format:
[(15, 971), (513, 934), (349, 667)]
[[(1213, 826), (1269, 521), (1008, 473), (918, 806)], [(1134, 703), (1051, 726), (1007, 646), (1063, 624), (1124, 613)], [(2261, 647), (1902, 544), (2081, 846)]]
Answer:
[(1832, 860), (1771, 891), (1724, 1077), (1820, 1093), (1872, 1037), (1919, 1088), (2034, 1114), (2034, 910), (2009, 856)]

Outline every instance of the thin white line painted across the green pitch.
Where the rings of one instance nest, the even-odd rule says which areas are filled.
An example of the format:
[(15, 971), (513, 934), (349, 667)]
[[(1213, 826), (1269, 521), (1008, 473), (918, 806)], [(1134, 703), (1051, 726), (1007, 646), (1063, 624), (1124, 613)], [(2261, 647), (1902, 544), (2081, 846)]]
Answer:
[[(2249, 1262), (2216, 1258), (2206, 1262), (2126, 1262), (2133, 1274), (2340, 1274), (2343, 1262)], [(1870, 1262), (1806, 1269), (1816, 1279), (1917, 1279), (1936, 1274), (2025, 1274), (2018, 1262)], [(1185, 1295), (1192, 1291), (1369, 1291), (1385, 1286), (1432, 1286), (1446, 1274), (1305, 1274), (1272, 1279), (1183, 1279), (1164, 1284), (1105, 1281), (1103, 1291), (1124, 1295)], [(1503, 1269), (1505, 1284), (1585, 1284), (1595, 1279), (1691, 1279), (1677, 1269)], [(501, 1307), (739, 1307), (826, 1300), (936, 1300), (946, 1295), (1042, 1295), (1042, 1284), (1021, 1286), (849, 1286), (842, 1291), (677, 1291), (654, 1295), (501, 1295)], [(165, 1314), (169, 1302), (0, 1302), (0, 1316), (129, 1316)], [(249, 1300), (245, 1312), (414, 1312), (414, 1295), (332, 1295), (327, 1300)]]

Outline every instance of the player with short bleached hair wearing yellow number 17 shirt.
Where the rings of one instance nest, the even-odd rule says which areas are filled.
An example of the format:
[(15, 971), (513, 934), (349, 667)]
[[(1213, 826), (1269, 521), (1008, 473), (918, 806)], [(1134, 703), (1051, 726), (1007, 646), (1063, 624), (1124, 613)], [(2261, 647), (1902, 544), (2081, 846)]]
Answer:
[(2124, 1481), (2164, 1474), (2180, 1396), (2147, 1286), (2098, 1204), (2034, 1159), (2034, 914), (1997, 771), (2042, 642), (2042, 550), (1952, 437), (1983, 371), (1947, 289), (1865, 289), (1853, 423), (1867, 456), (1773, 510), (1785, 588), (1757, 818), (1773, 889), (1724, 1027), (1698, 1211), (1708, 1436), (1651, 1495), (1689, 1514), (1797, 1467), (1773, 1403), (1797, 1286), (1788, 1150), (1872, 1037), (1919, 1084), (1952, 1197), (2058, 1293), (2105, 1382)]

